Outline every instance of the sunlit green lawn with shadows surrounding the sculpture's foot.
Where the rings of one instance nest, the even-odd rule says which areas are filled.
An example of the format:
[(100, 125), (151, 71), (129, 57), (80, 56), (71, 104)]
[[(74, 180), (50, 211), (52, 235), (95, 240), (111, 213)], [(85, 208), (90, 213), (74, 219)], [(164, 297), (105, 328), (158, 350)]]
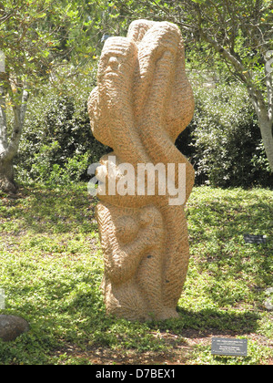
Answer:
[[(31, 330), (0, 340), (9, 364), (272, 364), (273, 191), (195, 188), (187, 206), (191, 260), (179, 319), (130, 323), (105, 314), (86, 184), (0, 194), (1, 314)], [(266, 244), (244, 242), (265, 234)], [(211, 337), (248, 339), (248, 357), (213, 357)]]

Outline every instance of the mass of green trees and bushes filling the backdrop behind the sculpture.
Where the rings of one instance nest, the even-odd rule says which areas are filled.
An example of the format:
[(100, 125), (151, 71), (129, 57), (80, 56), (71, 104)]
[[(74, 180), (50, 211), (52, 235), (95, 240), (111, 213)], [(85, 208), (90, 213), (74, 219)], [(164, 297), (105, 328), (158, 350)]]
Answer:
[[(273, 9), (268, 0), (253, 3), (255, 6), (244, 0), (236, 4), (180, 0), (177, 5), (161, 0), (30, 0), (20, 4), (8, 0), (0, 6), (10, 137), (13, 98), (22, 87), (30, 93), (15, 158), (17, 181), (56, 184), (86, 180), (88, 163), (96, 162), (108, 150), (93, 138), (86, 111), (88, 94), (96, 86), (101, 49), (107, 36), (125, 36), (132, 20), (146, 17), (177, 23), (185, 39), (187, 74), (197, 108), (177, 147), (193, 162), (197, 184), (272, 187), (258, 118), (240, 77), (249, 72), (255, 87), (264, 87), (265, 63), (258, 42), (263, 38), (266, 47), (270, 45)], [(203, 24), (199, 25), (196, 12), (204, 9)], [(234, 13), (233, 24), (227, 10)], [(248, 33), (252, 25), (255, 30)], [(229, 49), (246, 72), (240, 74), (228, 67), (227, 57), (220, 57), (201, 38), (202, 30), (214, 36), (223, 50)], [(217, 78), (217, 88), (204, 87), (206, 74)], [(266, 99), (266, 88), (263, 92)]]

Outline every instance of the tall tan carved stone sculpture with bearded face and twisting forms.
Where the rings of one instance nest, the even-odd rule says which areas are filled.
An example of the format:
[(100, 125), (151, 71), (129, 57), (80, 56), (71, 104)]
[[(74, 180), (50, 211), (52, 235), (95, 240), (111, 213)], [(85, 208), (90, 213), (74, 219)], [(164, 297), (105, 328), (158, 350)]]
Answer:
[[(189, 257), (184, 207), (194, 184), (193, 167), (175, 146), (194, 112), (178, 27), (137, 20), (126, 37), (109, 37), (88, 112), (96, 139), (114, 150), (96, 170), (106, 191), (98, 193), (96, 214), (105, 259), (102, 287), (107, 313), (129, 320), (177, 317)], [(175, 190), (184, 181), (183, 202), (172, 203), (170, 192), (162, 192), (159, 171), (155, 171), (155, 193), (148, 191), (147, 175), (144, 184), (127, 192), (117, 186), (113, 190), (113, 179), (126, 178), (122, 164), (129, 164), (135, 174), (139, 165), (172, 169), (169, 178)]]

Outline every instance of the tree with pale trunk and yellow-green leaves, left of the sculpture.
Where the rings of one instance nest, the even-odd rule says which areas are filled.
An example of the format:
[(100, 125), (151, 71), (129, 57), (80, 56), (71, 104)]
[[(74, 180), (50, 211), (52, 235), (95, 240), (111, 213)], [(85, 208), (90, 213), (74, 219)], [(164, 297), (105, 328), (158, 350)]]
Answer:
[(87, 11), (95, 6), (95, 0), (0, 3), (0, 190), (16, 191), (13, 160), (31, 91), (56, 78), (57, 67), (69, 62), (76, 70), (94, 54)]

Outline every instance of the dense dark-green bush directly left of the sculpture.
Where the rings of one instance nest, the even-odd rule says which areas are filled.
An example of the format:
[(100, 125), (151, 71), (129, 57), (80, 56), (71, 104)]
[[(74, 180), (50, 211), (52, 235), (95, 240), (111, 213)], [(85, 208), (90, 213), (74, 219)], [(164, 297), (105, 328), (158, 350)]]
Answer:
[(18, 181), (62, 184), (88, 180), (88, 165), (109, 149), (92, 134), (87, 98), (87, 92), (79, 98), (66, 89), (49, 88), (30, 100), (15, 160)]

